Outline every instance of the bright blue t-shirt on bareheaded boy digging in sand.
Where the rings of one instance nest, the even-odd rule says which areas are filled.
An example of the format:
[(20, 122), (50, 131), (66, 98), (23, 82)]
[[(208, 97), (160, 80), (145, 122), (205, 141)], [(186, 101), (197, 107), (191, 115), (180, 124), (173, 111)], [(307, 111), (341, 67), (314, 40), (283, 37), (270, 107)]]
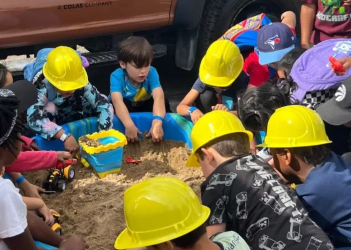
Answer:
[[(152, 90), (160, 86), (157, 70), (152, 66), (150, 66), (146, 79), (137, 87), (129, 82), (127, 72), (123, 68), (118, 68), (111, 73), (110, 93), (120, 92), (123, 99), (128, 99), (131, 102), (148, 100), (152, 96)], [(109, 99), (111, 100), (111, 94)]]

